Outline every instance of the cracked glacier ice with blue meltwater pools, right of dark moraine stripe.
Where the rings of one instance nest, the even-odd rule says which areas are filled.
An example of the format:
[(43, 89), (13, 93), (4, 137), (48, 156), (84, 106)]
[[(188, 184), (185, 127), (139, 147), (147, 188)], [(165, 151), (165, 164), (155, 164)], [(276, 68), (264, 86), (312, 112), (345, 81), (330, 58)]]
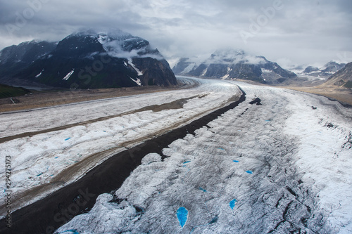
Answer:
[(146, 155), (56, 233), (351, 233), (352, 109), (213, 82), (239, 85), (246, 100), (164, 148), (165, 160)]

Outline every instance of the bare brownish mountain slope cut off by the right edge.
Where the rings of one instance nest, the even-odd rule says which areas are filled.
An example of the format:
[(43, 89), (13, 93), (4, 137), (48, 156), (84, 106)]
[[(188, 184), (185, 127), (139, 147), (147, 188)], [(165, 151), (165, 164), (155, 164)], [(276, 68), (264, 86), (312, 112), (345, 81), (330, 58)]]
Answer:
[(323, 85), (344, 86), (352, 88), (352, 63), (347, 63), (344, 68), (332, 74)]

